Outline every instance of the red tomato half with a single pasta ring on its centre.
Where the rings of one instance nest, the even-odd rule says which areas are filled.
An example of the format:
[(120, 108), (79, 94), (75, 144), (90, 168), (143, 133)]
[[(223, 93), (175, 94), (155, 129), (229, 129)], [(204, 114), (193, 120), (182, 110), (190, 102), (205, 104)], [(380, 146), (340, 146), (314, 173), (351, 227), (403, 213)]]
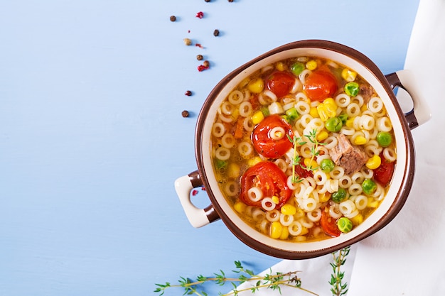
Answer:
[[(277, 140), (271, 138), (272, 128), (276, 127), (284, 129), (284, 135)], [(273, 114), (255, 126), (252, 132), (252, 143), (257, 153), (265, 158), (280, 158), (292, 147), (286, 135), (294, 138), (291, 126), (281, 116)]]

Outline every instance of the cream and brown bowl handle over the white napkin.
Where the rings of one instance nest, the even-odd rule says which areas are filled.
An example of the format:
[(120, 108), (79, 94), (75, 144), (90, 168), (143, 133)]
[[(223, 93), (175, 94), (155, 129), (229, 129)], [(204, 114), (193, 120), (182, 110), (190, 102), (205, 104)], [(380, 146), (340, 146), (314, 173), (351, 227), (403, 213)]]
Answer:
[(402, 87), (406, 90), (414, 103), (413, 109), (405, 113), (409, 128), (414, 129), (431, 119), (431, 111), (427, 102), (421, 95), (421, 91), (416, 84), (414, 75), (409, 70), (400, 70), (395, 73), (385, 75), (392, 89)]

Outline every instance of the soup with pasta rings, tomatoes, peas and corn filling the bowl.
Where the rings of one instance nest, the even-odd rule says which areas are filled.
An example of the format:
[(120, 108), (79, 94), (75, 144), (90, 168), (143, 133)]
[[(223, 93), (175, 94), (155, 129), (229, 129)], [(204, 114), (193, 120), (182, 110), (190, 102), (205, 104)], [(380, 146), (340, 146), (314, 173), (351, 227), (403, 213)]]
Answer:
[(320, 57), (263, 67), (223, 100), (211, 136), (227, 202), (273, 239), (313, 241), (359, 226), (396, 163), (382, 100), (354, 70)]

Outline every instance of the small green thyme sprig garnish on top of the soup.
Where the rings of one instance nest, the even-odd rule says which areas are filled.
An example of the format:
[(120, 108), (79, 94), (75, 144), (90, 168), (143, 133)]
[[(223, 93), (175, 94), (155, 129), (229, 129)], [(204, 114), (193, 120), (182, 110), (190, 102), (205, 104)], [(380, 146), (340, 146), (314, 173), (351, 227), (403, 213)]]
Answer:
[(292, 178), (291, 178), (291, 180), (293, 183), (298, 183), (298, 182), (301, 182), (301, 179), (300, 179), (299, 175), (296, 175), (296, 166), (300, 166), (304, 170), (310, 170), (310, 171), (317, 170), (318, 166), (313, 168), (312, 163), (313, 163), (313, 160), (315, 160), (315, 158), (318, 155), (320, 155), (318, 146), (326, 145), (326, 143), (318, 142), (316, 128), (309, 131), (309, 135), (304, 135), (308, 139), (308, 141), (313, 144), (311, 147), (311, 160), (309, 161), (310, 165), (308, 167), (305, 167), (304, 165), (301, 164), (301, 156), (298, 153), (298, 146), (303, 146), (307, 142), (304, 141), (303, 137), (301, 137), (301, 136), (299, 136), (299, 137), (294, 136), (294, 138), (291, 138), (291, 136), (289, 136), (289, 135), (286, 135), (286, 136), (289, 139), (289, 141), (294, 145), (294, 147), (293, 147), (294, 154), (292, 155), (292, 159), (291, 159), (291, 163), (292, 163)]

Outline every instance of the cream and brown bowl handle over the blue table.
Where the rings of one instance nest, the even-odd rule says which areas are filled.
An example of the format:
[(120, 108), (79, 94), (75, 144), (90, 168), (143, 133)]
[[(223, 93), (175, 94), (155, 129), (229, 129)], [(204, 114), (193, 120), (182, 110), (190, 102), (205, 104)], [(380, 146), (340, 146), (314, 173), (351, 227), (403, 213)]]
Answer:
[(181, 202), (184, 212), (186, 212), (188, 221), (195, 228), (205, 226), (220, 219), (218, 213), (215, 212), (213, 204), (210, 204), (205, 209), (199, 209), (191, 202), (190, 194), (193, 188), (202, 186), (203, 182), (198, 170), (195, 170), (186, 176), (179, 177), (175, 181), (176, 194), (178, 194), (179, 201)]

